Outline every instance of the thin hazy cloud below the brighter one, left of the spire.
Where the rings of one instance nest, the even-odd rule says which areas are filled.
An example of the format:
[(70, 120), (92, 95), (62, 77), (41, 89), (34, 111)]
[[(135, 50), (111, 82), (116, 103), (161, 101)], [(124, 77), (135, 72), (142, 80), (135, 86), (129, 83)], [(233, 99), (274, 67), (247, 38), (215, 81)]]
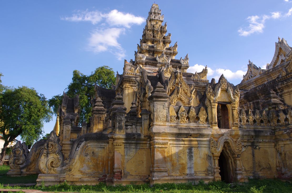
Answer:
[(110, 51), (120, 60), (125, 57), (125, 50), (118, 43), (117, 39), (125, 29), (123, 28), (108, 28), (96, 29), (91, 33), (88, 39), (88, 50), (94, 53)]

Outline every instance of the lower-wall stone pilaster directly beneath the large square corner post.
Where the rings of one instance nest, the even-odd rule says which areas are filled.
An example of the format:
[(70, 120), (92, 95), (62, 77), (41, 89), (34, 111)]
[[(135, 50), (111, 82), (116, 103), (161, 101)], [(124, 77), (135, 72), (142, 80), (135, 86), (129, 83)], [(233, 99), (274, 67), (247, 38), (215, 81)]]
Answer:
[(149, 180), (159, 180), (162, 177), (167, 177), (166, 156), (168, 141), (152, 140), (151, 142), (151, 175)]

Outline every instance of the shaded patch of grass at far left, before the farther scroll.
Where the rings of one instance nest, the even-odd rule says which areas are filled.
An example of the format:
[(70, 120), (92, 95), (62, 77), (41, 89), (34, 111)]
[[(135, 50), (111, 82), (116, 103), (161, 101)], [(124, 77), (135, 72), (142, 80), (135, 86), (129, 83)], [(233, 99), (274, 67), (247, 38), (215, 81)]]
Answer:
[(20, 177), (0, 175), (0, 184), (35, 183), (37, 176), (37, 174)]

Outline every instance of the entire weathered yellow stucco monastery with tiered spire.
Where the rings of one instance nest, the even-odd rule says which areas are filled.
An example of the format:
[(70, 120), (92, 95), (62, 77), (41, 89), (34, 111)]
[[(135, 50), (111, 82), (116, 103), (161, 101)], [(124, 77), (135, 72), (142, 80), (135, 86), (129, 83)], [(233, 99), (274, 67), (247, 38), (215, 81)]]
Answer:
[(129, 184), (292, 177), (292, 48), (276, 43), (267, 70), (252, 62), (234, 86), (207, 67), (187, 73), (188, 55), (153, 4), (114, 89), (96, 86), (92, 117), (78, 127), (79, 97), (64, 93), (48, 140), (13, 146), (8, 175), (37, 184)]

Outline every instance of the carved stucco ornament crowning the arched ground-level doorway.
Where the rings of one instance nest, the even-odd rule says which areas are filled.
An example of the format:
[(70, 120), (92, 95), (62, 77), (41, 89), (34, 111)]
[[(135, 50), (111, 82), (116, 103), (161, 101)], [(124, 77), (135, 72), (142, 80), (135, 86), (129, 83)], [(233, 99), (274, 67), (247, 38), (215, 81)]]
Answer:
[(241, 154), (241, 150), (242, 150), (242, 144), (241, 144), (241, 139), (238, 138), (236, 141), (230, 136), (229, 132), (226, 132), (223, 134), (222, 137), (220, 137), (217, 141), (215, 141), (212, 137), (210, 138), (210, 149), (211, 149), (211, 153), (215, 156), (215, 157), (219, 157), (223, 145), (224, 143), (227, 142), (229, 143), (232, 152), (236, 155), (240, 155)]

